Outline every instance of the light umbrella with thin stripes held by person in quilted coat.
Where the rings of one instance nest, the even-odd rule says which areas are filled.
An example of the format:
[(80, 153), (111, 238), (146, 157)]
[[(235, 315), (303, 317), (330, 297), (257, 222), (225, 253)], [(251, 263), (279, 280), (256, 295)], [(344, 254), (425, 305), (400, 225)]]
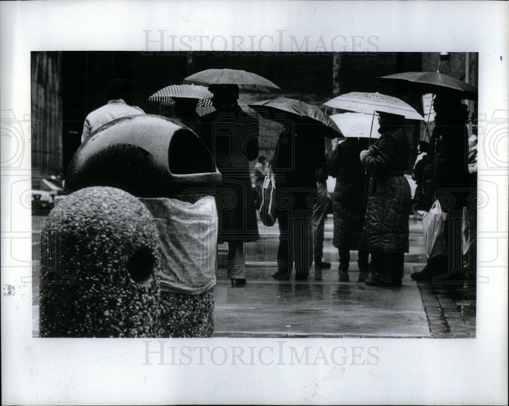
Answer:
[(422, 120), (424, 118), (408, 103), (397, 97), (387, 96), (381, 93), (350, 92), (324, 103), (334, 107), (357, 113), (375, 114), (384, 112), (404, 116), (410, 120)]

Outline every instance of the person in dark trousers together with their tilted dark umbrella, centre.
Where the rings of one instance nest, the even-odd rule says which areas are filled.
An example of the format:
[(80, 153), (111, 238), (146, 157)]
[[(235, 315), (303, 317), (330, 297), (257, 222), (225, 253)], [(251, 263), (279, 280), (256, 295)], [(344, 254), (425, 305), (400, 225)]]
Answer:
[[(283, 125), (272, 159), (279, 225), (278, 270), (272, 277), (289, 280), (295, 264), (295, 280), (303, 281), (313, 264), (313, 209), (321, 202), (316, 171), (325, 161), (324, 137), (343, 139), (343, 134), (319, 107), (300, 100), (276, 97), (248, 105)], [(315, 268), (317, 279), (321, 271)]]

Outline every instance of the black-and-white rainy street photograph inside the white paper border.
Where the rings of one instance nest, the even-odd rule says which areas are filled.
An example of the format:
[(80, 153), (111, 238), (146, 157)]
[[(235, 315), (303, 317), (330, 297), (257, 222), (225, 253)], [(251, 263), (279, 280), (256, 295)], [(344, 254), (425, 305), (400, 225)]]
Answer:
[(475, 337), (476, 53), (31, 59), (35, 336)]

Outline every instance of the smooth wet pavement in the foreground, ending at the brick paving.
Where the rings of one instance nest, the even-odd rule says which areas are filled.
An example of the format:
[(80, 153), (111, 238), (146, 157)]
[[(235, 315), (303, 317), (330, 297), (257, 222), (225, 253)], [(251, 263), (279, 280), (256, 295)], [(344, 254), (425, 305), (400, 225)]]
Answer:
[[(337, 265), (336, 265), (337, 266)], [(428, 320), (415, 283), (379, 288), (337, 282), (337, 271), (324, 271), (323, 281), (274, 282), (276, 268), (248, 269), (245, 288), (231, 288), (228, 280), (216, 285), (217, 336), (334, 336), (429, 337)], [(407, 266), (406, 274), (411, 272)], [(407, 276), (408, 278), (408, 276)]]

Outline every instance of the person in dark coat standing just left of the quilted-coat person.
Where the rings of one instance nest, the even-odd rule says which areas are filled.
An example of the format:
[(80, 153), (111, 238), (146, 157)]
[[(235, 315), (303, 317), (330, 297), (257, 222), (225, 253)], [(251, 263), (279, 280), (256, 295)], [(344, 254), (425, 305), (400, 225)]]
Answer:
[(358, 250), (359, 278), (364, 282), (369, 276), (369, 252), (359, 248), (360, 233), (364, 222), (365, 169), (358, 156), (369, 146), (367, 138), (347, 138), (337, 145), (328, 160), (329, 174), (336, 178), (332, 202), (334, 233), (332, 245), (340, 256), (338, 272), (340, 282), (348, 282), (350, 251)]

